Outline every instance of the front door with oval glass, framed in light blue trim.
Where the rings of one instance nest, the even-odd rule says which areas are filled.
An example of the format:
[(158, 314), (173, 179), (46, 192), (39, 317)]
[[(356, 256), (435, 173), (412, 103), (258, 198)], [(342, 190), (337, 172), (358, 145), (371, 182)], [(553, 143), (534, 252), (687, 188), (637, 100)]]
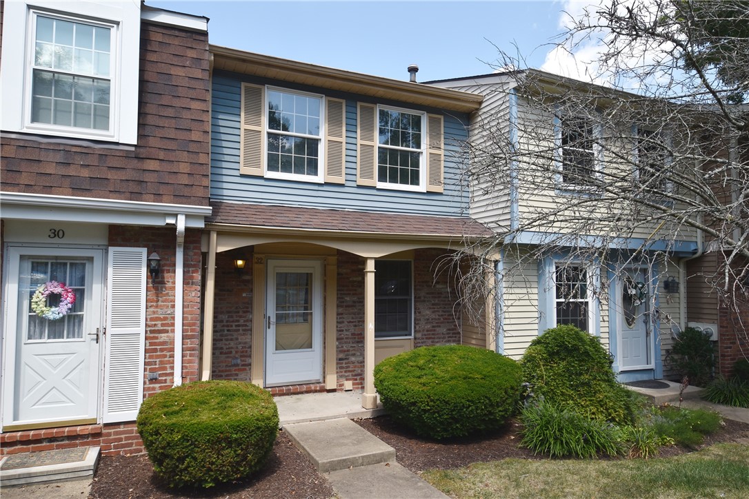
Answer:
[(630, 269), (620, 284), (622, 370), (652, 368), (649, 286), (646, 271)]

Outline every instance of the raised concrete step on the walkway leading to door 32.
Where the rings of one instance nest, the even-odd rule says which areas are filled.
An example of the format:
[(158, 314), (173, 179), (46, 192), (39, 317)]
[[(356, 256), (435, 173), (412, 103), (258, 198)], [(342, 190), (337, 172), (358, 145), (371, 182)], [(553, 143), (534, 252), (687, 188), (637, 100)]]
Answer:
[(287, 424), (284, 431), (321, 473), (395, 461), (395, 449), (346, 417)]

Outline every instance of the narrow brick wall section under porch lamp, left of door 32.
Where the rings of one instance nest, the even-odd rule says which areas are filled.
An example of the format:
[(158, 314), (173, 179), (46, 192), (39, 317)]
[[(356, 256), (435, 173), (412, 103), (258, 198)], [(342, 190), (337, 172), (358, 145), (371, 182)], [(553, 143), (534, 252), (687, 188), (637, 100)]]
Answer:
[(252, 261), (248, 260), (244, 272), (237, 276), (233, 254), (216, 254), (213, 307), (211, 377), (251, 381)]

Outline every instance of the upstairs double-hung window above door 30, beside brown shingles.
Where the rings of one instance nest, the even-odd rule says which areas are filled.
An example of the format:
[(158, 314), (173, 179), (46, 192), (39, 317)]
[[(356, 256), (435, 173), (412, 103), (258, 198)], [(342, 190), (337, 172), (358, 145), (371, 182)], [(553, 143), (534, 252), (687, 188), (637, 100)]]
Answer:
[(46, 13), (33, 26), (31, 125), (110, 132), (115, 26)]

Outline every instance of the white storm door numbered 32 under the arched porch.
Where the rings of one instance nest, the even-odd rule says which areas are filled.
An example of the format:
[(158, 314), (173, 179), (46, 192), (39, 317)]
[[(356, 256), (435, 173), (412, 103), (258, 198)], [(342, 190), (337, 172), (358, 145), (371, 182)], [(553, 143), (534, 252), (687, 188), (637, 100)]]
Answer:
[(322, 264), (268, 260), (265, 385), (322, 381)]

